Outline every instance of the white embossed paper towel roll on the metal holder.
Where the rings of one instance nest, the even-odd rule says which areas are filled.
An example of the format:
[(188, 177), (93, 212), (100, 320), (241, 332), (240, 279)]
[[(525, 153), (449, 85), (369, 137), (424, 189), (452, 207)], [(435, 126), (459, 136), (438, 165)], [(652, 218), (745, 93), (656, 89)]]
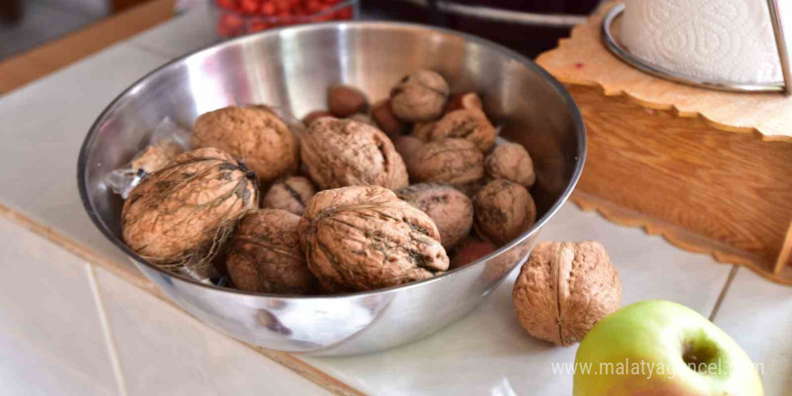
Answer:
[(783, 81), (765, 0), (625, 3), (621, 40), (650, 64), (707, 80)]

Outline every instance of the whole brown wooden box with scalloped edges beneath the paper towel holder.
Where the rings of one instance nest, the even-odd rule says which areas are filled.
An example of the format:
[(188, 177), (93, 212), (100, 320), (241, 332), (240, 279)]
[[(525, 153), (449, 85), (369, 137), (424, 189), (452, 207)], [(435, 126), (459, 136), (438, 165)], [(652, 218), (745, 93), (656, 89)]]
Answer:
[(586, 121), (575, 202), (792, 284), (792, 98), (644, 74), (602, 44), (608, 8), (537, 59)]

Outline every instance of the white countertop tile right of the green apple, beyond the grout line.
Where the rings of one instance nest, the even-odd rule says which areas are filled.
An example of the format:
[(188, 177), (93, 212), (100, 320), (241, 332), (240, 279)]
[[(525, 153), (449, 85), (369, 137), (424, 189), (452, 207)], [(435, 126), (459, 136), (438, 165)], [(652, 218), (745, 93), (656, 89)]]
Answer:
[(765, 394), (792, 394), (792, 287), (740, 268), (715, 324), (761, 364)]

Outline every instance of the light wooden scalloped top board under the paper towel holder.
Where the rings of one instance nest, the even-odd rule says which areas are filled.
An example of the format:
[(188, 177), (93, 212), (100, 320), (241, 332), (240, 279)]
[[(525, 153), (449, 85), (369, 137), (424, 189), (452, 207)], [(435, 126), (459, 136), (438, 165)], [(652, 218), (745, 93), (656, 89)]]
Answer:
[(626, 95), (645, 108), (702, 117), (720, 130), (792, 141), (792, 97), (738, 94), (680, 85), (641, 72), (611, 55), (602, 44), (602, 18), (612, 5), (572, 29), (572, 37), (536, 58), (563, 83), (597, 85), (606, 96)]

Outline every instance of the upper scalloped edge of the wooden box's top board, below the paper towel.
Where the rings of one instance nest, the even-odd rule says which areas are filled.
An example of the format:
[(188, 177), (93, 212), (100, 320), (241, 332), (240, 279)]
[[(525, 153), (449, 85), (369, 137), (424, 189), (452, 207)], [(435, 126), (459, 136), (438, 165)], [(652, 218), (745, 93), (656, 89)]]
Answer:
[[(559, 40), (558, 41), (558, 46), (556, 48), (550, 49), (550, 50), (545, 51), (542, 54), (540, 54), (536, 58), (536, 63), (539, 66), (544, 67), (548, 72), (550, 72), (555, 78), (557, 78), (563, 84), (594, 86), (594, 87), (597, 87), (602, 92), (602, 94), (604, 94), (605, 96), (620, 96), (621, 95), (621, 96), (625, 96), (628, 101), (630, 101), (632, 103), (636, 103), (636, 104), (638, 104), (638, 105), (640, 105), (640, 106), (642, 106), (644, 108), (647, 108), (647, 109), (671, 111), (675, 115), (678, 115), (678, 116), (680, 116), (682, 118), (699, 118), (702, 121), (705, 121), (707, 123), (707, 125), (711, 125), (712, 127), (716, 128), (717, 130), (724, 130), (724, 131), (727, 131), (727, 132), (737, 132), (737, 133), (748, 133), (748, 134), (752, 134), (755, 137), (760, 138), (762, 141), (767, 141), (767, 142), (778, 142), (779, 141), (779, 142), (792, 143), (792, 135), (781, 135), (781, 134), (775, 134), (775, 133), (768, 134), (768, 133), (763, 133), (757, 127), (741, 127), (741, 126), (729, 125), (729, 124), (724, 123), (722, 121), (716, 121), (713, 117), (707, 116), (707, 114), (705, 114), (703, 112), (686, 112), (686, 111), (683, 111), (674, 103), (662, 103), (662, 102), (647, 101), (645, 99), (642, 99), (642, 98), (636, 96), (634, 93), (630, 93), (630, 92), (626, 91), (625, 88), (623, 88), (623, 87), (608, 86), (606, 84), (600, 83), (599, 81), (597, 81), (595, 79), (581, 79), (581, 78), (575, 78), (575, 77), (572, 77), (572, 76), (562, 76), (562, 75), (559, 75), (557, 70), (554, 70), (554, 67), (550, 67), (550, 66), (547, 65), (547, 63), (546, 63), (546, 59), (547, 58), (551, 58), (554, 55), (556, 55), (558, 52), (560, 52), (562, 49), (570, 47), (574, 40), (579, 39), (579, 37), (581, 37), (581, 35), (587, 34), (588, 31), (585, 31), (585, 30), (590, 29), (592, 27), (592, 25), (594, 25), (596, 27), (598, 37), (600, 37), (600, 35), (599, 35), (600, 34), (599, 33), (599, 26), (602, 23), (602, 19), (603, 19), (604, 15), (607, 14), (608, 11), (610, 10), (610, 8), (612, 8), (614, 5), (616, 5), (616, 2), (614, 4), (607, 4), (607, 5), (603, 6), (603, 7), (600, 7), (599, 11), (596, 14), (590, 15), (586, 19), (586, 23), (581, 23), (581, 24), (575, 26), (574, 28), (572, 28), (572, 34), (571, 34), (570, 38), (564, 38), (564, 39)], [(602, 45), (602, 52), (603, 52), (604, 56), (608, 56), (610, 58), (616, 59), (619, 64), (624, 65), (626, 70), (628, 70), (630, 72), (634, 72), (634, 73), (640, 73), (640, 74), (646, 76), (647, 78), (656, 80), (658, 82), (661, 82), (662, 84), (668, 84), (669, 86), (679, 86), (680, 89), (691, 89), (691, 90), (695, 90), (695, 91), (698, 91), (698, 92), (701, 92), (701, 93), (705, 93), (705, 94), (712, 94), (713, 93), (712, 91), (707, 90), (707, 89), (694, 88), (694, 87), (690, 87), (690, 86), (687, 86), (687, 85), (680, 85), (680, 84), (673, 83), (673, 82), (670, 82), (670, 81), (662, 80), (661, 78), (658, 78), (658, 77), (646, 75), (643, 72), (641, 72), (641, 71), (639, 71), (639, 70), (637, 70), (637, 69), (635, 69), (633, 67), (630, 67), (629, 65), (626, 65), (625, 63), (621, 62), (620, 59), (617, 59), (610, 52), (608, 52), (608, 49), (605, 48), (604, 44)], [(716, 94), (726, 94), (726, 93), (717, 92)], [(731, 94), (742, 95), (742, 94), (736, 94), (736, 93), (731, 93)], [(755, 94), (751, 94), (751, 95), (755, 95)], [(792, 129), (792, 128), (790, 128), (790, 129)]]

